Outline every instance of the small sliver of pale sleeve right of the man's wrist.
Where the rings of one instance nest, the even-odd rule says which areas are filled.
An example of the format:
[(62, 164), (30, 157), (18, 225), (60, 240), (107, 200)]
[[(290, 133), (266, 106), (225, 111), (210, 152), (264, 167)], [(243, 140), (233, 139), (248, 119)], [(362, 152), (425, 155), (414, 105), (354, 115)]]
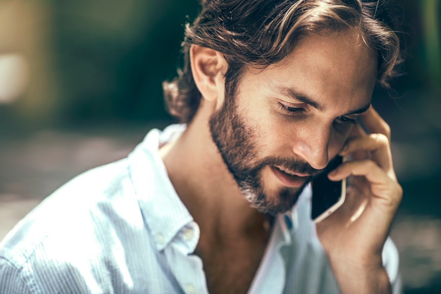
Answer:
[(388, 273), (393, 294), (402, 294), (401, 277), (399, 271), (399, 255), (395, 244), (389, 237), (384, 243), (382, 252), (383, 266)]

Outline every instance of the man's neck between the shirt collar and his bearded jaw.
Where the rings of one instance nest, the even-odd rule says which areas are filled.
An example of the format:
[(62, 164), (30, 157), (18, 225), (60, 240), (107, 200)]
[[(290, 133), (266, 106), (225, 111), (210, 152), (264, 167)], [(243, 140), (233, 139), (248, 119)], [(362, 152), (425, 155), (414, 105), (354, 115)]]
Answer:
[(201, 106), (182, 136), (160, 149), (169, 177), (201, 237), (266, 234), (267, 218), (240, 193), (211, 139), (211, 113), (209, 105)]

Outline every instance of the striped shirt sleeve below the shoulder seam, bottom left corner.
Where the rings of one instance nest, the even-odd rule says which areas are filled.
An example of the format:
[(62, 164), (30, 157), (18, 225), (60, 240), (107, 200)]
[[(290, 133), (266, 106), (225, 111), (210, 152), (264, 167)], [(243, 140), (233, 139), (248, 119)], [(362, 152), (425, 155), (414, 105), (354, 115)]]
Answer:
[(0, 293), (31, 294), (20, 271), (7, 259), (0, 257)]

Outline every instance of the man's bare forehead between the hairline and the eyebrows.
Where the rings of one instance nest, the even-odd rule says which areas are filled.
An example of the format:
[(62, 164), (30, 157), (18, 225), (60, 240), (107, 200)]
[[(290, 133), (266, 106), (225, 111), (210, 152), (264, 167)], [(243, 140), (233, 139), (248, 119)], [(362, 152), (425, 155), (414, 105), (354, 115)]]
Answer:
[(356, 106), (371, 99), (377, 57), (355, 30), (347, 30), (303, 36), (281, 62), (264, 70), (249, 69), (245, 79), (255, 87), (256, 83), (289, 87), (311, 97)]

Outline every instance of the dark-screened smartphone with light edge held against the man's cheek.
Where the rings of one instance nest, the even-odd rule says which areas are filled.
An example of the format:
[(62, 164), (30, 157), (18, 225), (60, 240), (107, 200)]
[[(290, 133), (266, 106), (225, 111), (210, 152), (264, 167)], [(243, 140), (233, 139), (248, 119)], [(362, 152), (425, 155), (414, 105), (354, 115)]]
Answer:
[(318, 223), (337, 210), (345, 201), (346, 179), (331, 181), (327, 178), (329, 172), (336, 169), (345, 161), (337, 155), (326, 166), (325, 170), (312, 181), (311, 219)]

